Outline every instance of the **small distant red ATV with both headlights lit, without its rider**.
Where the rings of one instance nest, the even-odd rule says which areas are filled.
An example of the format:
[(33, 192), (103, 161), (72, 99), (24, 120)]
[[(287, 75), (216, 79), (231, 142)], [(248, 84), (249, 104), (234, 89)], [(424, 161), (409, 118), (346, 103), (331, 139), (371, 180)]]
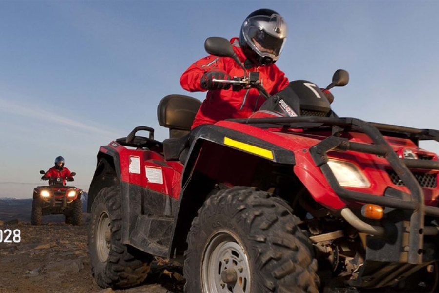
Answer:
[[(45, 174), (43, 170), (40, 174)], [(67, 181), (73, 181), (71, 177)], [(48, 186), (38, 186), (34, 188), (32, 196), (32, 215), (31, 224), (41, 225), (42, 216), (53, 214), (64, 214), (65, 222), (72, 225), (82, 224), (82, 189), (66, 186), (62, 178), (55, 180), (48, 179)]]

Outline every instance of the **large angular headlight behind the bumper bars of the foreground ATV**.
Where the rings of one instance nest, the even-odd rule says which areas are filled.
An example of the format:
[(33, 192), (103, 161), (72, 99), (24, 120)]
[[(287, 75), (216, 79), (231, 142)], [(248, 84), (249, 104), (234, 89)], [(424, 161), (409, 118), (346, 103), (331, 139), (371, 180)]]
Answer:
[(328, 165), (337, 178), (339, 185), (361, 188), (370, 187), (369, 180), (367, 180), (367, 178), (355, 164), (329, 159)]

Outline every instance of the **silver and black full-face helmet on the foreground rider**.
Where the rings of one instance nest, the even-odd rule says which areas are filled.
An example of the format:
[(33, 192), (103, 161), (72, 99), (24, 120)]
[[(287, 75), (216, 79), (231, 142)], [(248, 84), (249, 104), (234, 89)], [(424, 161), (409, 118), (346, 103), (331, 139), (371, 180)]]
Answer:
[(279, 13), (258, 9), (242, 23), (239, 45), (254, 65), (271, 65), (278, 60), (287, 34), (288, 27)]

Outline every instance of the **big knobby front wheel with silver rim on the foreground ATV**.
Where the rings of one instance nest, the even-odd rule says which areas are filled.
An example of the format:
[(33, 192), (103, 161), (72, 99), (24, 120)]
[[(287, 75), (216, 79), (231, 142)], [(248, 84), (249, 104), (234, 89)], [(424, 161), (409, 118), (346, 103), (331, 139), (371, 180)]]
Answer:
[(187, 237), (186, 292), (318, 292), (309, 239), (286, 202), (255, 188), (211, 196)]

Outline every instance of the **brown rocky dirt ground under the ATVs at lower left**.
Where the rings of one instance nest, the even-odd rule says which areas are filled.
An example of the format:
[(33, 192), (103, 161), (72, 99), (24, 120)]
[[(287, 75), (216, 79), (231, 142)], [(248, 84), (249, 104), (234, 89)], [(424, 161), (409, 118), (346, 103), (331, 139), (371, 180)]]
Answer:
[[(12, 221), (0, 229), (20, 229), (20, 243), (0, 243), (0, 292), (113, 292), (93, 280), (87, 255), (87, 224), (31, 226)], [(177, 262), (156, 260), (145, 282), (117, 292), (182, 292)]]

